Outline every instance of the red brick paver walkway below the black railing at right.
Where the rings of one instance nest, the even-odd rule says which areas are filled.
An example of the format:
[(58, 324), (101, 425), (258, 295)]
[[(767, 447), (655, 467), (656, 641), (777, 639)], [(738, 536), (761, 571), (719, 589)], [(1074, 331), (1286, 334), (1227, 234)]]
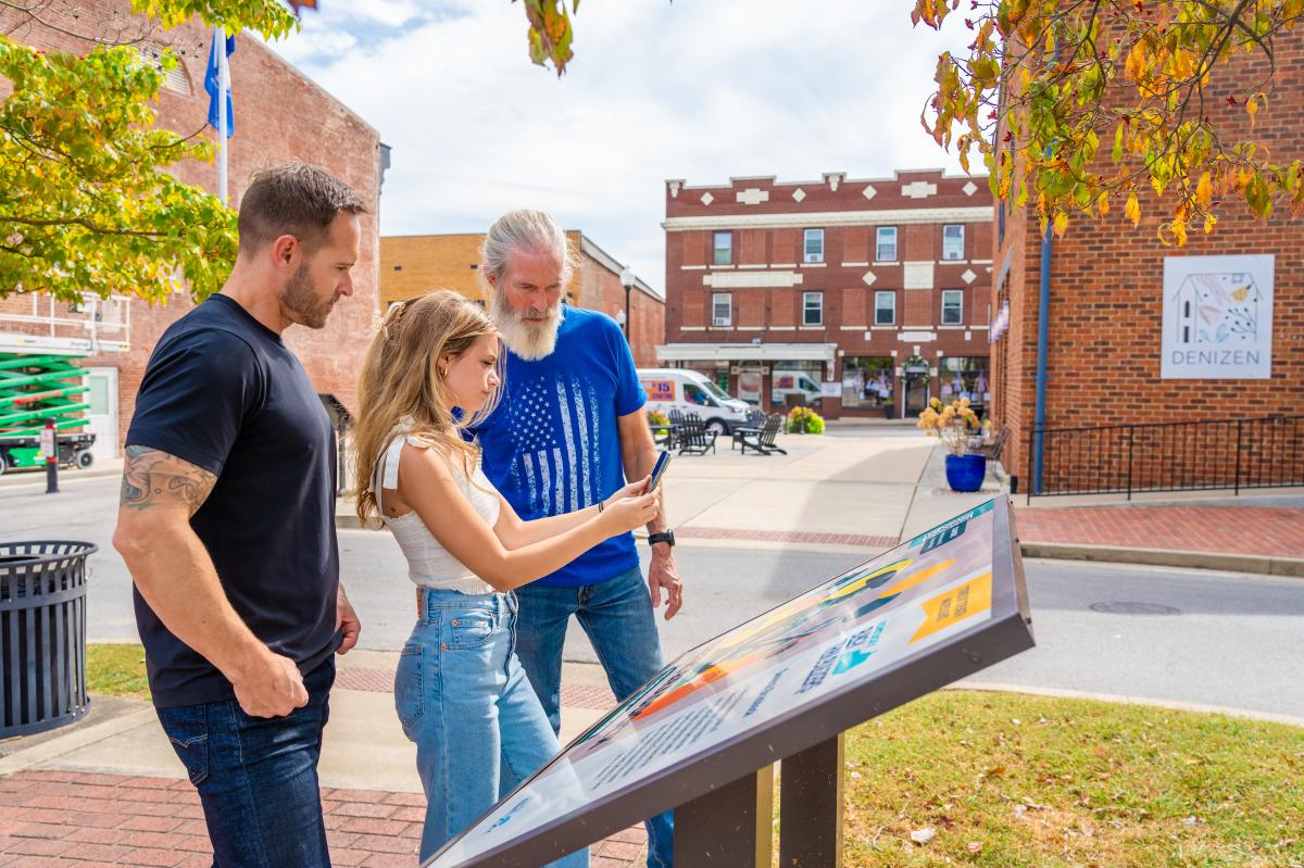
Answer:
[(1304, 558), (1304, 510), (1213, 506), (1018, 507), (1024, 542)]

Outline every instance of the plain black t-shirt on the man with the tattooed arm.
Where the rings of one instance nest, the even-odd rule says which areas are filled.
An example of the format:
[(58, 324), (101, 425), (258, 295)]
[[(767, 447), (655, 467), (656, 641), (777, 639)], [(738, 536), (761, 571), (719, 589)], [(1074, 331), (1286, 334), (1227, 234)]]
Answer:
[[(190, 527), (227, 600), (301, 671), (327, 659), (339, 645), (335, 437), (280, 336), (220, 295), (172, 323), (145, 369), (126, 443), (218, 476)], [(154, 704), (232, 699), (231, 683), (133, 597)]]

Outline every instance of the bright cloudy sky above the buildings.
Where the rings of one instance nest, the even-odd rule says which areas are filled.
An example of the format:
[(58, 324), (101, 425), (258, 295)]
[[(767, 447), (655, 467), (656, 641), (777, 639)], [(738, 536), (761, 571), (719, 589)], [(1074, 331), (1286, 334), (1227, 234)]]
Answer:
[(519, 3), (321, 5), (273, 48), (394, 149), (382, 235), (537, 207), (664, 289), (666, 179), (960, 171), (919, 112), (970, 34), (913, 29), (910, 0), (585, 0), (561, 80), (529, 63)]

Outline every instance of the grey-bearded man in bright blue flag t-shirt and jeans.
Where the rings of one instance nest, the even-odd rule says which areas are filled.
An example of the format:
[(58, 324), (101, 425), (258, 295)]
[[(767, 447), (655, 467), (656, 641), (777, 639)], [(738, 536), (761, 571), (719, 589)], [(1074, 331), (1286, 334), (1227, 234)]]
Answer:
[[(605, 314), (561, 304), (574, 253), (549, 215), (511, 211), (485, 236), (481, 274), (507, 353), (502, 403), (476, 435), (484, 469), (522, 519), (601, 502), (656, 463), (634, 356)], [(662, 500), (664, 503), (664, 500)], [(516, 654), (553, 729), (561, 731), (561, 669), (574, 615), (593, 643), (617, 699), (662, 667), (652, 609), (682, 603), (674, 534), (665, 515), (648, 525), (647, 585), (634, 536), (595, 546), (557, 572), (516, 589)], [(648, 865), (670, 865), (670, 813), (648, 820)]]

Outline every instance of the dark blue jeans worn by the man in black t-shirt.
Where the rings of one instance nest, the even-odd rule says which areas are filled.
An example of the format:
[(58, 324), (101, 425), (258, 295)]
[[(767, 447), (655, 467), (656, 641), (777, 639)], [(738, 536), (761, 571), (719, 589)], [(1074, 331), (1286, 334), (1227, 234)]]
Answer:
[(317, 760), (334, 683), (327, 659), (287, 717), (249, 717), (235, 700), (156, 709), (200, 791), (215, 868), (330, 868)]

